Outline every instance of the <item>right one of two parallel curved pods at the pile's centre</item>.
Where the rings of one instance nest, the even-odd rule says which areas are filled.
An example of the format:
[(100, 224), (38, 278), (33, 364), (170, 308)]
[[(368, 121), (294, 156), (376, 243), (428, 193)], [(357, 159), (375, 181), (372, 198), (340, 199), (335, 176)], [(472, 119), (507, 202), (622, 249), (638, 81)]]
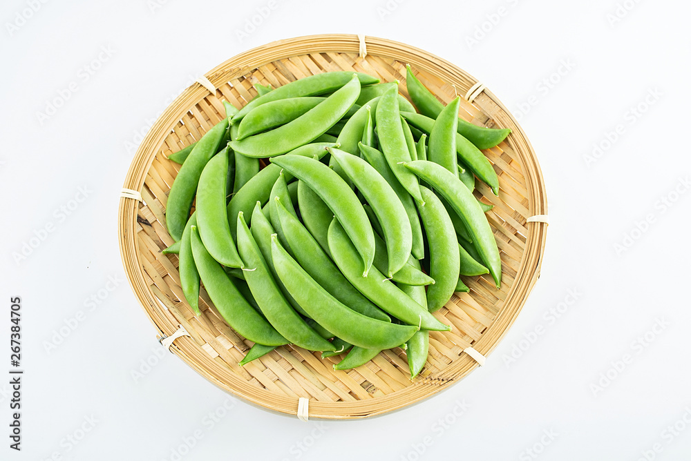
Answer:
[(377, 215), (388, 248), (387, 273), (392, 277), (406, 264), (413, 247), (413, 231), (406, 208), (386, 179), (365, 160), (336, 148), (328, 150)]

